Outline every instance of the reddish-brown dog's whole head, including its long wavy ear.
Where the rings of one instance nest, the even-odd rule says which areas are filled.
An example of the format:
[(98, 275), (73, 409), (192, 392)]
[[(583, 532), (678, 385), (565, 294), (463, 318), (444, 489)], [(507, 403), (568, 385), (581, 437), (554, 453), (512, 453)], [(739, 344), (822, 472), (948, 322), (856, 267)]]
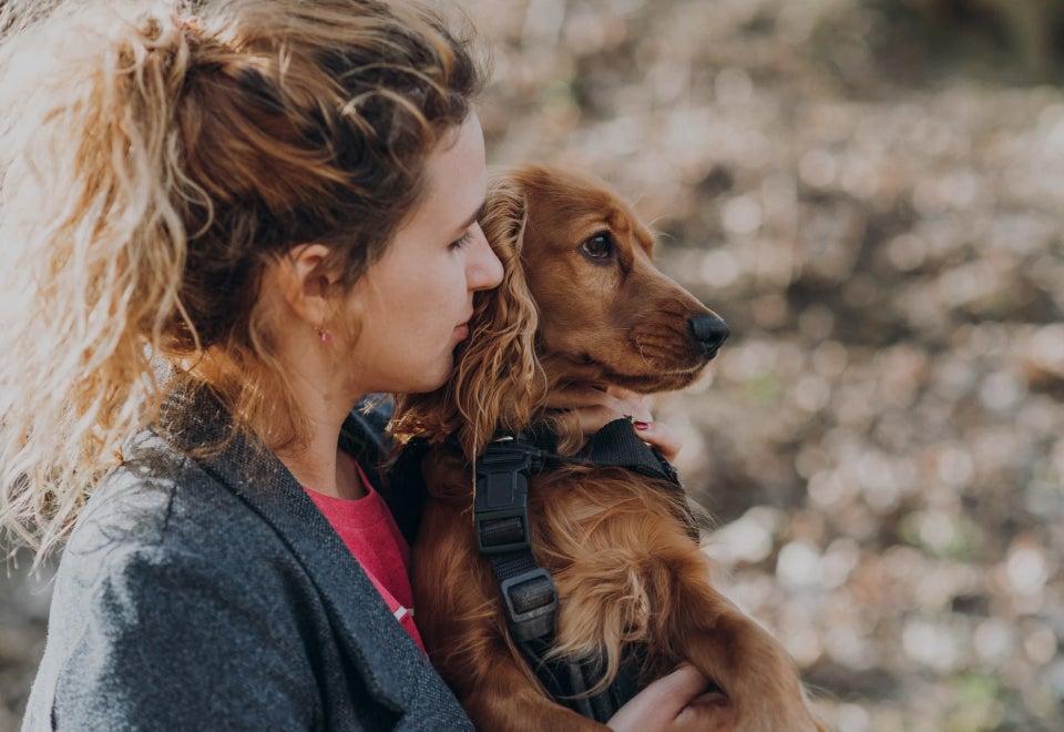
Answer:
[(560, 386), (684, 387), (728, 336), (654, 266), (653, 235), (595, 179), (541, 165), (495, 175), (481, 226), (503, 283), (478, 294), (448, 384), (400, 403), (400, 435), (458, 429), (471, 456), (528, 426)]

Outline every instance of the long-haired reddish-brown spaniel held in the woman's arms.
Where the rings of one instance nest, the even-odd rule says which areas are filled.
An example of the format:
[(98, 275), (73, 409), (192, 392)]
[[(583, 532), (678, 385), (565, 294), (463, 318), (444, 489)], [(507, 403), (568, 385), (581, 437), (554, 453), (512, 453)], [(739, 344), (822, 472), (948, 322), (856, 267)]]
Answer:
[(448, 384), (401, 398), (392, 423), (400, 443), (429, 445), (412, 584), (432, 663), (478, 729), (603, 729), (555, 703), (522, 655), (471, 526), (475, 458), (489, 440), (546, 425), (562, 464), (532, 475), (528, 491), (532, 552), (556, 586), (545, 659), (593, 661), (594, 693), (635, 644), (641, 683), (690, 662), (726, 694), (736, 730), (826, 730), (782, 647), (713, 588), (682, 492), (623, 467), (566, 461), (585, 437), (548, 406), (572, 387), (682, 388), (727, 326), (654, 266), (654, 237), (597, 180), (508, 171), (492, 177), (484, 212), (503, 283), (477, 294)]

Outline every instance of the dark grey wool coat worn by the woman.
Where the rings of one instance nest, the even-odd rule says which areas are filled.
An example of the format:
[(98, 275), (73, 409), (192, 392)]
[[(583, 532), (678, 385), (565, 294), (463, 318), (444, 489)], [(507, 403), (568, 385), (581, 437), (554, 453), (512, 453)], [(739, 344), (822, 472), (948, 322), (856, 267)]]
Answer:
[[(175, 406), (176, 405), (176, 406)], [(206, 397), (130, 441), (64, 549), (23, 730), (464, 730), (451, 691), (280, 461)], [(341, 445), (374, 454), (352, 414)]]

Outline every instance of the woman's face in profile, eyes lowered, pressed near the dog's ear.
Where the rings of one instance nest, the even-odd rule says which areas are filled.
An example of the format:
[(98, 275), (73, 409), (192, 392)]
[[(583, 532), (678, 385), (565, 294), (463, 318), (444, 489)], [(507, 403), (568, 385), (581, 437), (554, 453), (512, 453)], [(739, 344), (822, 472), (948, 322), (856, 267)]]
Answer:
[(477, 223), (488, 175), (475, 114), (444, 138), (427, 174), (424, 200), (347, 297), (360, 326), (350, 370), (358, 395), (442, 385), (469, 336), (473, 293), (502, 281)]

